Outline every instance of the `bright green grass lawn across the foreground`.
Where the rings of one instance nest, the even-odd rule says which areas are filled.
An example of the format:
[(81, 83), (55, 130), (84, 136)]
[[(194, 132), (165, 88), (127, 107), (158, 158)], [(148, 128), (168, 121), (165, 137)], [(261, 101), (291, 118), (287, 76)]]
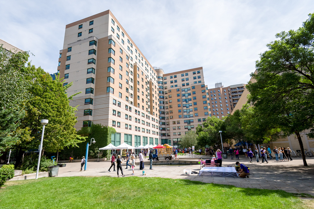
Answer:
[(0, 208), (304, 208), (292, 193), (142, 177), (8, 181)]

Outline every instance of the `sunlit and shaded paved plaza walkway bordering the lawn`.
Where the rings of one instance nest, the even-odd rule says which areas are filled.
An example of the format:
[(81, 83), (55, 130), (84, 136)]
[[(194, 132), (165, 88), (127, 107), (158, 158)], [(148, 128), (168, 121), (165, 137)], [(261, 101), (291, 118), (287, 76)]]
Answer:
[[(268, 164), (253, 162), (249, 163), (249, 159), (240, 157), (240, 163), (247, 165), (250, 168), (250, 178), (236, 178), (236, 177), (219, 177), (198, 174), (184, 175), (184, 169), (192, 169), (198, 172), (200, 165), (187, 165), (187, 166), (153, 166), (154, 170), (149, 170), (149, 166), (145, 165), (146, 176), (142, 175), (142, 170), (139, 166), (134, 169), (134, 176), (140, 177), (161, 177), (172, 179), (188, 179), (192, 181), (202, 181), (204, 183), (216, 183), (225, 185), (234, 185), (243, 188), (257, 188), (257, 189), (271, 189), (271, 190), (284, 190), (292, 193), (306, 193), (314, 196), (314, 158), (306, 158), (307, 167), (303, 166), (302, 158), (293, 158), (289, 162), (276, 162), (275, 159), (269, 160)], [(203, 159), (206, 159), (205, 156)], [(254, 159), (254, 158), (253, 158)], [(148, 160), (145, 159), (145, 161)], [(138, 159), (136, 160), (138, 162)], [(223, 166), (235, 165), (236, 160), (223, 159)], [(125, 164), (125, 161), (123, 161)], [(64, 176), (111, 176), (117, 177), (117, 173), (108, 171), (111, 163), (110, 161), (101, 162), (88, 162), (87, 170), (80, 170), (80, 163), (67, 163), (66, 167), (59, 168), (58, 177)], [(132, 169), (125, 169), (122, 166), (124, 175), (132, 177)], [(120, 171), (120, 176), (121, 171)]]

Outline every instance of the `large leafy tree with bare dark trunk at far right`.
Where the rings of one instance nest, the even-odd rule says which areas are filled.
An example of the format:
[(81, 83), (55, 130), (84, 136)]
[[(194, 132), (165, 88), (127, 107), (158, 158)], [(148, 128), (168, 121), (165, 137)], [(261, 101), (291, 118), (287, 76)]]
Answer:
[(300, 133), (314, 124), (314, 14), (297, 30), (276, 34), (256, 63), (255, 83), (247, 86), (251, 102), (269, 125), (295, 134), (307, 166)]

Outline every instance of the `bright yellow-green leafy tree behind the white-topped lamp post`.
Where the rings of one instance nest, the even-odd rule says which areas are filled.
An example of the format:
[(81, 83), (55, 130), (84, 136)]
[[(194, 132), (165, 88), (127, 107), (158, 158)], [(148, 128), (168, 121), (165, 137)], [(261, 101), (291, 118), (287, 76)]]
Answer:
[(43, 71), (40, 67), (27, 66), (33, 75), (33, 82), (29, 88), (30, 98), (26, 101), (25, 117), (21, 121), (19, 131), (21, 137), (15, 142), (18, 149), (16, 164), (20, 163), (24, 151), (38, 149), (41, 140), (41, 119), (48, 119), (45, 127), (43, 149), (47, 152), (57, 152), (64, 147), (77, 146), (85, 140), (77, 134), (74, 128), (77, 122), (75, 107), (69, 105), (66, 90), (71, 84), (63, 86), (61, 79), (56, 80)]

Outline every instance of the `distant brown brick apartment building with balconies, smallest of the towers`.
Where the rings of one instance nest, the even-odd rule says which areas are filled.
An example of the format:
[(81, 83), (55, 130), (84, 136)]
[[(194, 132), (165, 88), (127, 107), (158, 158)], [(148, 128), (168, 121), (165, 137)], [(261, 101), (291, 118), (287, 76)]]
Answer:
[(208, 89), (208, 97), (211, 105), (210, 116), (223, 118), (230, 114), (241, 97), (246, 84), (237, 84), (224, 87), (222, 83), (216, 83), (215, 88)]

